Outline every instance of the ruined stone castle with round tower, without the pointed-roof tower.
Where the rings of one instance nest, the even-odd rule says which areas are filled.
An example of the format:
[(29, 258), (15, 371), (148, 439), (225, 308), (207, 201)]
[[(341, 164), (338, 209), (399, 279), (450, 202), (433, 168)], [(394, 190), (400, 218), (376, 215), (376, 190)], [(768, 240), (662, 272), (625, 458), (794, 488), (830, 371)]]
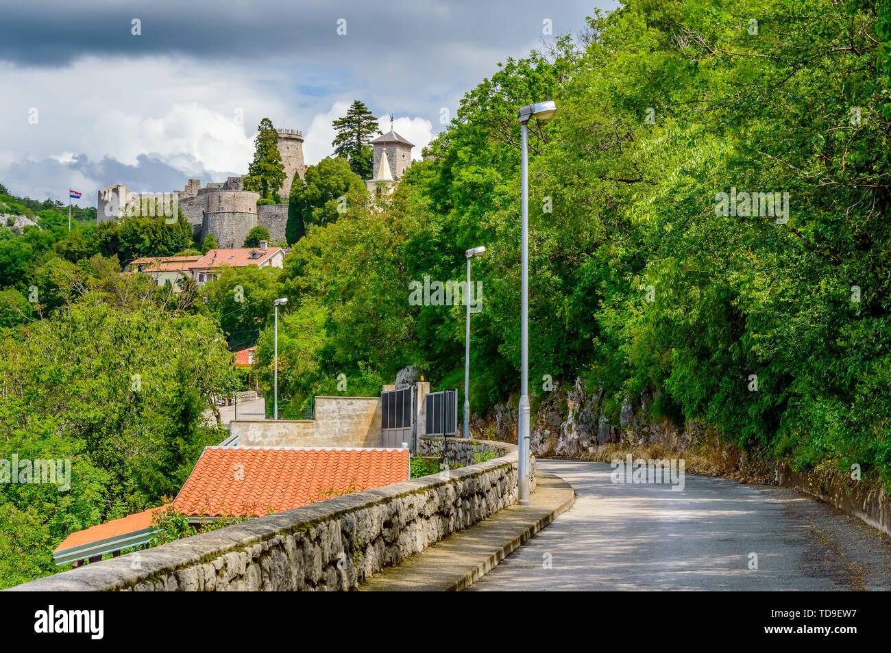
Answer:
[(199, 243), (212, 234), (217, 247), (241, 247), (249, 231), (257, 226), (269, 230), (272, 242), (284, 240), (290, 184), (295, 173), (303, 179), (306, 171), (303, 134), (295, 129), (278, 130), (278, 149), (282, 154), (285, 173), (284, 183), (279, 189), (284, 204), (257, 206), (260, 194), (244, 189), (244, 177), (208, 182), (204, 188), (201, 188), (200, 180), (190, 179), (184, 189), (170, 193), (136, 193), (117, 183), (99, 191), (96, 222), (117, 221), (138, 213), (146, 200), (157, 200), (162, 205), (176, 201), (185, 219), (192, 225), (193, 238)]

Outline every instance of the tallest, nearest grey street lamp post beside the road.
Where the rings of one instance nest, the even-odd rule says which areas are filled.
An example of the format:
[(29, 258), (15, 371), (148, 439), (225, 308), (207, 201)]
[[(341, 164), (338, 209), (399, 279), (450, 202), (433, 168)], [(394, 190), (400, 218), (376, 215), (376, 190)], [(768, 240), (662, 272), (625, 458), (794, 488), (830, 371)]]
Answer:
[(529, 206), (528, 206), (528, 143), (527, 124), (529, 118), (549, 120), (557, 113), (557, 105), (552, 100), (536, 102), (519, 109), (520, 141), (522, 148), (520, 185), (522, 198), (520, 200), (520, 212), (522, 222), (522, 244), (520, 265), (522, 273), (521, 293), (522, 309), (520, 316), (520, 397), (519, 397), (519, 422), (517, 424), (517, 444), (519, 446), (519, 497), (520, 505), (529, 504)]

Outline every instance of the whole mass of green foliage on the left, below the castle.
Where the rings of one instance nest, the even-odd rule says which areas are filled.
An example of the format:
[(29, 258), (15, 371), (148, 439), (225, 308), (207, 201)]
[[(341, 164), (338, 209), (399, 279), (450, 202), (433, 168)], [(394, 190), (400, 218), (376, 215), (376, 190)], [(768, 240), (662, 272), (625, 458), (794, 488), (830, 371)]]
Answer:
[[(241, 322), (222, 317), (217, 300), (228, 297), (215, 284), (175, 294), (122, 274), (136, 256), (189, 251), (182, 217), (97, 227), (86, 224), (94, 211), (72, 211), (69, 232), (67, 206), (3, 201), (36, 222), (0, 228), (0, 584), (9, 586), (55, 571), (53, 549), (70, 532), (176, 494), (202, 447), (225, 438), (214, 398), (238, 381), (219, 324)], [(249, 295), (270, 277), (252, 283), (251, 272), (261, 270), (240, 277)], [(256, 338), (257, 322), (243, 321)], [(67, 462), (69, 483), (26, 482), (15, 461)]]

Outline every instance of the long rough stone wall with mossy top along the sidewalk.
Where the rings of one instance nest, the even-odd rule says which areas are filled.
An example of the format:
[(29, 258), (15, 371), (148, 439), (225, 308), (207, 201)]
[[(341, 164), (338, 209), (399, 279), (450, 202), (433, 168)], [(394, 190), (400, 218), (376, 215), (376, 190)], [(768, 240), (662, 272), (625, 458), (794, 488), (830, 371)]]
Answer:
[(473, 445), (504, 455), (90, 563), (12, 591), (356, 589), (380, 569), (517, 502), (517, 447)]

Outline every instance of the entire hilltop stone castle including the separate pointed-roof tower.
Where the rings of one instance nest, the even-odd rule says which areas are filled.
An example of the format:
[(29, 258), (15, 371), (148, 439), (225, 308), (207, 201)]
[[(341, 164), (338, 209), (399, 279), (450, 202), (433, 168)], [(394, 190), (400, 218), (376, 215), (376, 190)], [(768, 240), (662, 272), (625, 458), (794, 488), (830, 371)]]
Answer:
[[(120, 183), (102, 189), (96, 200), (96, 222), (118, 221), (139, 214), (141, 207), (150, 200), (161, 206), (176, 201), (185, 219), (192, 225), (193, 238), (201, 243), (210, 235), (217, 247), (228, 249), (241, 247), (251, 229), (266, 227), (270, 242), (285, 240), (288, 222), (288, 204), (291, 181), (295, 173), (302, 180), (306, 172), (303, 158), (303, 134), (295, 129), (279, 129), (278, 149), (284, 165), (284, 183), (279, 196), (284, 204), (257, 206), (260, 194), (244, 189), (244, 177), (229, 177), (226, 181), (201, 182), (190, 179), (184, 189), (170, 193), (136, 193)], [(372, 179), (365, 181), (372, 192), (390, 193), (412, 165), (412, 143), (394, 132), (379, 136), (372, 141), (374, 152)], [(161, 214), (159, 212), (159, 214)], [(169, 215), (169, 213), (167, 214)]]

